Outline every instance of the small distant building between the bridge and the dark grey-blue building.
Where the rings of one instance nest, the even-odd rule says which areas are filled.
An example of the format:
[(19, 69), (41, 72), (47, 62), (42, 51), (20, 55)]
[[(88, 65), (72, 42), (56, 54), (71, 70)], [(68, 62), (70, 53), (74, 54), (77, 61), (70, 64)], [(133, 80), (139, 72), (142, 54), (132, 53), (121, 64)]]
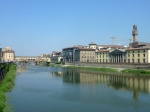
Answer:
[(51, 63), (62, 63), (63, 55), (62, 52), (53, 51), (51, 54)]

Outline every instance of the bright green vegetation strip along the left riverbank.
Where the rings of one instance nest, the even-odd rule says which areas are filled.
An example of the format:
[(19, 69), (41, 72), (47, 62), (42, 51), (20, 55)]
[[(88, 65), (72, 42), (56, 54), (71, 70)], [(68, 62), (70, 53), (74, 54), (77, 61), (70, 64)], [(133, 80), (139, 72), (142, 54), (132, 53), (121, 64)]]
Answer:
[[(8, 69), (8, 67), (6, 68)], [(6, 106), (6, 92), (11, 91), (14, 86), (14, 81), (16, 77), (16, 65), (11, 65), (8, 69), (8, 72), (0, 84), (0, 112), (3, 112), (3, 109)]]

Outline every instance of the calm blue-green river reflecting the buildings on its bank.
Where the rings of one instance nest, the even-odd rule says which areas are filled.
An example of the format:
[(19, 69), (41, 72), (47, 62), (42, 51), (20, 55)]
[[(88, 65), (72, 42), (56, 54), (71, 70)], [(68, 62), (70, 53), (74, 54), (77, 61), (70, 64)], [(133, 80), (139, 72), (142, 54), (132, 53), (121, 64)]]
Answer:
[(23, 66), (7, 95), (13, 112), (149, 112), (150, 78)]

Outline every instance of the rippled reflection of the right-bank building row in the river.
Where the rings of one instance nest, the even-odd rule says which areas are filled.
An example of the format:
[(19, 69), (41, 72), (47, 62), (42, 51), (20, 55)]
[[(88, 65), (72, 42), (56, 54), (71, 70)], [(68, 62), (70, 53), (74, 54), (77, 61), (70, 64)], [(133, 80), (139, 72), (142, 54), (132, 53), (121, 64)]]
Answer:
[(139, 92), (150, 93), (150, 77), (95, 74), (68, 70), (63, 72), (63, 81), (83, 84), (105, 83), (114, 89), (132, 91), (134, 99), (138, 99)]

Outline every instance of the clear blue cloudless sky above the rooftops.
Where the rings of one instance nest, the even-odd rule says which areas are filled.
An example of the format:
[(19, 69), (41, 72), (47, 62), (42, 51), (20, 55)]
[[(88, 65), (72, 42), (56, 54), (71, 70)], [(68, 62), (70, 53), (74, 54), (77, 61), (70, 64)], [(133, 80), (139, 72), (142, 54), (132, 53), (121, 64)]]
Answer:
[(0, 48), (39, 56), (75, 45), (150, 42), (150, 0), (0, 0)]

